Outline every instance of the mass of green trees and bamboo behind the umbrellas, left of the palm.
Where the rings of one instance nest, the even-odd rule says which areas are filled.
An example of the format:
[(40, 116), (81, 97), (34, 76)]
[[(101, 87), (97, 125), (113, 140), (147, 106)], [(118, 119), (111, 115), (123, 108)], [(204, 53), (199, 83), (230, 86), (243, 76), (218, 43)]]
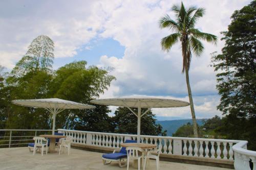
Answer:
[[(60, 98), (86, 104), (98, 98), (115, 80), (108, 70), (87, 67), (86, 61), (72, 62), (53, 70), (53, 52), (53, 41), (40, 35), (31, 42), (28, 52), (10, 74), (0, 66), (0, 129), (52, 128), (52, 115), (47, 110), (17, 106), (11, 103), (12, 100)], [(118, 108), (116, 116), (110, 117), (108, 107), (95, 106), (95, 109), (64, 110), (56, 116), (56, 128), (137, 134), (134, 130), (137, 118), (129, 110)], [(126, 125), (126, 121), (130, 123)], [(141, 122), (142, 135), (166, 135), (151, 111)], [(13, 135), (22, 135), (18, 133), (23, 132)]]

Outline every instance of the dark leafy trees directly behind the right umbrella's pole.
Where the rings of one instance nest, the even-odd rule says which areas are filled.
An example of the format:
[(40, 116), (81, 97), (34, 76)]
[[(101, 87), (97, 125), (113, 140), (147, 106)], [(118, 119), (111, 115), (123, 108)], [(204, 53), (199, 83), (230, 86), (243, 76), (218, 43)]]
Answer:
[[(137, 113), (138, 108), (132, 108)], [(147, 109), (142, 108), (141, 112)], [(113, 117), (115, 124), (115, 133), (137, 134), (137, 117), (126, 107), (118, 107)], [(162, 126), (156, 124), (155, 115), (148, 111), (141, 117), (141, 135), (164, 135), (167, 131), (162, 132)]]

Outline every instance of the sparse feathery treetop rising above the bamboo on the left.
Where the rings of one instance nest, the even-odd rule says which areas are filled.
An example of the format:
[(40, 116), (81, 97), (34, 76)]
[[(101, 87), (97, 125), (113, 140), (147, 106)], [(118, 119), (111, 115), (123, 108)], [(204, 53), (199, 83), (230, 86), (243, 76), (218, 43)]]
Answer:
[(54, 43), (45, 35), (36, 37), (28, 47), (25, 56), (12, 70), (14, 76), (20, 77), (35, 70), (50, 70), (54, 58)]

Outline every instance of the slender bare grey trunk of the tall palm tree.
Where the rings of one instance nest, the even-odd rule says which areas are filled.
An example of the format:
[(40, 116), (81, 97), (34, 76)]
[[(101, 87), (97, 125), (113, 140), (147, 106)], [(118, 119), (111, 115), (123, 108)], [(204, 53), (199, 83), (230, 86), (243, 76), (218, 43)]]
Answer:
[(194, 137), (197, 137), (197, 138), (198, 138), (198, 133), (197, 133), (197, 119), (196, 119), (196, 114), (195, 114), (195, 109), (194, 109), (194, 103), (193, 103), (193, 98), (192, 98), (192, 92), (191, 92), (191, 88), (190, 88), (190, 84), (189, 84), (189, 76), (188, 76), (187, 64), (185, 65), (185, 74), (186, 74), (187, 92), (188, 92), (188, 98), (189, 98), (189, 103), (190, 103), (190, 110), (191, 110), (192, 121), (193, 121)]

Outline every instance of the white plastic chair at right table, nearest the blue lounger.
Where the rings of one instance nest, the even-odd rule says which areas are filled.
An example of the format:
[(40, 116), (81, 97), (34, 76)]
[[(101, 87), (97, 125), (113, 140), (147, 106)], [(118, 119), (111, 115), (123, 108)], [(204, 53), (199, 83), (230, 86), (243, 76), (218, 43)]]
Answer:
[(127, 147), (126, 151), (127, 151), (127, 170), (129, 170), (129, 161), (130, 161), (130, 159), (132, 159), (132, 160), (137, 159), (138, 160), (138, 170), (140, 170), (140, 159), (142, 158), (142, 156), (140, 156), (138, 154), (138, 151), (143, 152), (142, 149), (138, 148), (138, 147)]

